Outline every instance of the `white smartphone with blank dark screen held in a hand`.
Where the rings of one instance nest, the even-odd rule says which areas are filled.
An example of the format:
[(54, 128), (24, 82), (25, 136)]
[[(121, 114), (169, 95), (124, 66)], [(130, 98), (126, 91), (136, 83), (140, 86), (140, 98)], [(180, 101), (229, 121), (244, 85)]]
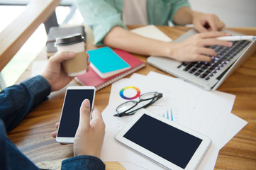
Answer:
[(80, 106), (84, 99), (90, 101), (90, 109), (94, 106), (94, 86), (69, 86), (67, 87), (60, 125), (57, 130), (56, 141), (60, 143), (74, 143), (74, 135), (79, 125)]

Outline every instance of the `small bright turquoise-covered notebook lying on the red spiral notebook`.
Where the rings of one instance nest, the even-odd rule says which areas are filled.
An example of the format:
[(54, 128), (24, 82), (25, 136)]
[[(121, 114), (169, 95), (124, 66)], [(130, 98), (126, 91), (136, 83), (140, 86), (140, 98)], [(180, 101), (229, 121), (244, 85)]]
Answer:
[(130, 69), (130, 65), (110, 47), (87, 51), (91, 68), (103, 79)]

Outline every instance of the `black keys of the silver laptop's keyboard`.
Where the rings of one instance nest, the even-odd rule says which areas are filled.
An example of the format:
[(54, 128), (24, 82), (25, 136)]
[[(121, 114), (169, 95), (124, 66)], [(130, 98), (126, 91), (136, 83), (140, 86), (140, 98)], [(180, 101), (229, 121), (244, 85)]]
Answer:
[(228, 62), (230, 62), (230, 60), (233, 59), (238, 52), (243, 50), (248, 43), (250, 43), (250, 41), (242, 40), (233, 41), (232, 47), (224, 47), (220, 45), (210, 46), (209, 48), (218, 53), (217, 57), (211, 57), (211, 62), (182, 62), (178, 68), (208, 81), (226, 64), (228, 64)]

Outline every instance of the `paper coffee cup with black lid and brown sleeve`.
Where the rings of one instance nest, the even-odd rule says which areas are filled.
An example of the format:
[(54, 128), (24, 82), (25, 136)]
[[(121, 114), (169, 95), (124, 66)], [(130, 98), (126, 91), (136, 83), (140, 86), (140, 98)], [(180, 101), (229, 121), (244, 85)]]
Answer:
[(81, 34), (65, 35), (55, 39), (58, 52), (75, 52), (72, 60), (62, 62), (69, 77), (75, 77), (87, 72), (87, 52), (84, 50), (84, 37)]

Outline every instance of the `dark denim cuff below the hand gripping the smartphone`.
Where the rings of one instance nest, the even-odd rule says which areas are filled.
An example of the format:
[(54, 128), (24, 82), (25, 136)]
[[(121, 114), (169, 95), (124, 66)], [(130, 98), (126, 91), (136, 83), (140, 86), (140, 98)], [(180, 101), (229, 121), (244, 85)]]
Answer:
[(89, 155), (81, 155), (72, 157), (62, 161), (62, 170), (76, 170), (76, 169), (94, 169), (104, 170), (106, 168), (101, 159)]

